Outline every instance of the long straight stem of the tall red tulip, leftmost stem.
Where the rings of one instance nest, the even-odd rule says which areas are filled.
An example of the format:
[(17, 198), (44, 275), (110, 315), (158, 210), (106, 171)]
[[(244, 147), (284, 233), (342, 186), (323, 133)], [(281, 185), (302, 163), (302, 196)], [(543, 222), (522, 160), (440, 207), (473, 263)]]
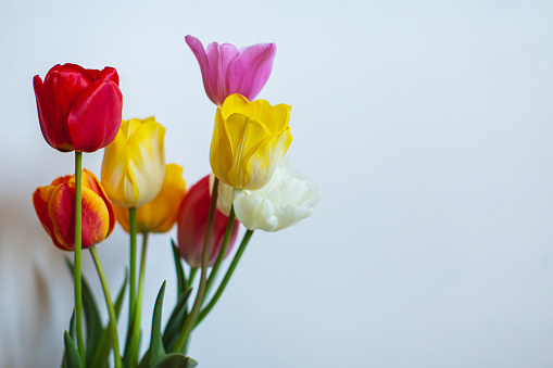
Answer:
[(74, 279), (75, 279), (75, 314), (77, 315), (77, 346), (83, 367), (86, 366), (85, 360), (85, 340), (83, 339), (83, 292), (80, 276), (80, 257), (81, 257), (81, 213), (80, 213), (80, 186), (81, 186), (81, 166), (83, 152), (75, 151), (75, 259), (74, 259)]

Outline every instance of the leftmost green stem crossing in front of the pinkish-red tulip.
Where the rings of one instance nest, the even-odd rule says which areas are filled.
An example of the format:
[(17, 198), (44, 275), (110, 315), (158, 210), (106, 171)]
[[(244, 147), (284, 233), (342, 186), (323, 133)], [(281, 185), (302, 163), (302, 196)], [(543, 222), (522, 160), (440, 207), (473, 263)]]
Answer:
[(180, 352), (181, 348), (186, 347), (186, 342), (188, 341), (188, 335), (192, 331), (192, 327), (196, 325), (196, 316), (203, 303), (203, 295), (205, 292), (205, 284), (208, 283), (208, 263), (210, 261), (210, 251), (211, 251), (211, 237), (213, 233), (213, 224), (215, 223), (215, 210), (217, 205), (217, 193), (218, 193), (218, 179), (215, 177), (215, 181), (213, 182), (213, 191), (211, 195), (210, 203), (210, 214), (208, 217), (208, 226), (205, 228), (205, 238), (203, 241), (203, 253), (202, 253), (202, 272), (200, 275), (200, 285), (198, 288), (198, 293), (196, 294), (194, 304), (192, 306), (192, 310), (188, 315), (185, 321), (185, 326), (180, 330), (178, 334), (177, 341), (173, 346), (172, 352), (177, 353)]

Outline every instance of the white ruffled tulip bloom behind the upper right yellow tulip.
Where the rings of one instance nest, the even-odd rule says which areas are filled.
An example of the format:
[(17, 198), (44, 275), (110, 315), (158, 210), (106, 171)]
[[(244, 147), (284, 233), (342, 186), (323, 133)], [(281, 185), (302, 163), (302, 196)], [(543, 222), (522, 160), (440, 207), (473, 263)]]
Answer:
[(277, 231), (311, 216), (319, 198), (321, 191), (290, 170), (285, 161), (260, 190), (241, 191), (219, 183), (217, 208), (228, 214), (234, 204), (236, 218), (249, 230)]

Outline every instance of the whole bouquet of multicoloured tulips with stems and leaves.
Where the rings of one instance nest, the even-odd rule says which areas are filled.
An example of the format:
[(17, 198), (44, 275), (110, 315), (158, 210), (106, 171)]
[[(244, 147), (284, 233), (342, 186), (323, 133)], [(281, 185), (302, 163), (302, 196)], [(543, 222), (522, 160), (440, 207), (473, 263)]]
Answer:
[[(154, 117), (122, 120), (123, 94), (115, 68), (64, 64), (52, 67), (43, 81), (38, 75), (34, 78), (46, 141), (58, 151), (75, 152), (75, 174), (59, 177), (33, 194), (37, 216), (53, 244), (74, 253), (67, 263), (74, 276), (75, 309), (64, 334), (62, 367), (110, 367), (111, 353), (117, 368), (194, 367), (197, 363), (187, 356), (190, 333), (219, 300), (254, 230), (289, 227), (310, 216), (319, 198), (318, 189), (282, 161), (292, 141), (291, 106), (254, 100), (269, 77), (275, 45), (237, 49), (213, 42), (204, 50), (192, 36), (186, 42), (200, 64), (205, 92), (216, 105), (212, 174), (188, 190), (183, 167), (165, 163), (165, 128)], [(81, 161), (83, 152), (102, 148), (99, 180), (81, 167)], [(128, 275), (112, 295), (96, 245), (110, 236), (115, 223), (129, 233), (130, 245)], [(240, 223), (246, 233), (216, 284)], [(141, 348), (148, 238), (175, 224), (178, 240), (172, 242), (172, 251), (178, 300), (162, 326), (164, 282), (152, 312), (150, 342)], [(137, 233), (142, 240), (138, 270)], [(90, 252), (103, 289), (105, 322), (81, 275), (84, 249)], [(127, 333), (118, 337), (127, 289)]]

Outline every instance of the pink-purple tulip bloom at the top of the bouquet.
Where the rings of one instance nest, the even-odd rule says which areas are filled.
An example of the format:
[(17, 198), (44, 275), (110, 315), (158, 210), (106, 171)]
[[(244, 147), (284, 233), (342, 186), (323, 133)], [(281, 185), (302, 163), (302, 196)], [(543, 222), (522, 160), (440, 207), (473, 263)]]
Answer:
[(205, 93), (214, 104), (222, 104), (232, 93), (254, 100), (273, 69), (275, 43), (257, 43), (237, 49), (230, 43), (210, 43), (208, 50), (192, 36), (185, 37), (202, 72)]

